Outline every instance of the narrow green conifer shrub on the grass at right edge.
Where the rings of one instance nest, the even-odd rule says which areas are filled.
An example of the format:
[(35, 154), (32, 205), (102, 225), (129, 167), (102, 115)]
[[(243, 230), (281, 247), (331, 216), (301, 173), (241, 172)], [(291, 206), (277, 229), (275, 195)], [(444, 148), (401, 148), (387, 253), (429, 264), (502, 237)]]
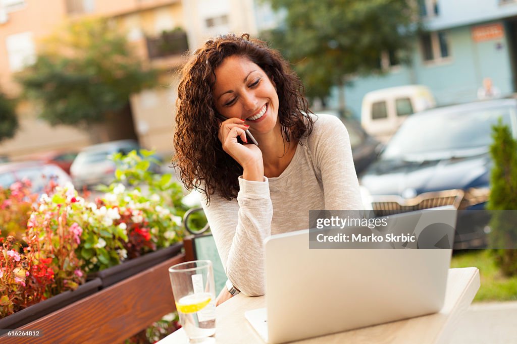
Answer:
[(517, 226), (509, 210), (517, 209), (517, 142), (511, 131), (499, 119), (492, 127), (493, 143), (490, 153), (494, 167), (490, 177), (492, 189), (488, 209), (492, 210), (490, 226), (491, 244), (495, 261), (501, 270), (511, 276), (517, 275), (517, 250), (503, 249), (508, 243), (517, 243)]

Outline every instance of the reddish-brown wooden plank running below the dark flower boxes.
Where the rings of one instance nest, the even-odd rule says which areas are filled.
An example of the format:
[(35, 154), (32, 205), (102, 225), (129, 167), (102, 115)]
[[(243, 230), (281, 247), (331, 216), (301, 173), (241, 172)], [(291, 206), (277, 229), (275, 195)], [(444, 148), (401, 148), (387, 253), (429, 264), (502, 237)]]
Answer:
[(168, 269), (184, 254), (58, 309), (17, 331), (35, 337), (0, 338), (2, 343), (120, 343), (175, 309)]

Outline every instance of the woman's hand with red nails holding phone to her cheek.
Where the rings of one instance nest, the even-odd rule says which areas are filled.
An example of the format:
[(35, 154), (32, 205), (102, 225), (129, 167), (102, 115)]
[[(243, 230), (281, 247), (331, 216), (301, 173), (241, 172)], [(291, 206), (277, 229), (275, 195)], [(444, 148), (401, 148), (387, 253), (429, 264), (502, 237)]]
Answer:
[(242, 176), (247, 180), (264, 180), (264, 162), (262, 151), (256, 145), (242, 145), (237, 141), (240, 137), (242, 142), (247, 142), (246, 130), (249, 126), (244, 124), (240, 118), (229, 118), (221, 122), (219, 127), (219, 140), (223, 150), (239, 163), (244, 169)]

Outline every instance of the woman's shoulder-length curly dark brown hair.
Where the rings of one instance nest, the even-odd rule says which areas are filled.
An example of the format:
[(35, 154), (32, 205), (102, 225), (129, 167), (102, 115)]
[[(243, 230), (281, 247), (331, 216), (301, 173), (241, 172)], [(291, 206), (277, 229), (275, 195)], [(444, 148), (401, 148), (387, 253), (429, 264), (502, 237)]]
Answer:
[(277, 86), (278, 117), (286, 142), (298, 142), (312, 132), (313, 120), (304, 88), (282, 55), (248, 34), (231, 34), (208, 40), (181, 70), (176, 100), (176, 132), (172, 160), (188, 190), (237, 197), (242, 167), (226, 152), (218, 138), (220, 120), (212, 96), (215, 69), (229, 56), (245, 56), (262, 68)]

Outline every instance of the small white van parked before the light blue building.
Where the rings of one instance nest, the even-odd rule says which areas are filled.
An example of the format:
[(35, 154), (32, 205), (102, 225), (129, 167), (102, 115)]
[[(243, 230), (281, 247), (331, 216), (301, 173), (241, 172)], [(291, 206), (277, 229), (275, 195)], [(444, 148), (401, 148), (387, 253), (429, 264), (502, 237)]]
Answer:
[(361, 125), (386, 143), (408, 115), (436, 106), (428, 87), (407, 85), (366, 93), (361, 105)]

